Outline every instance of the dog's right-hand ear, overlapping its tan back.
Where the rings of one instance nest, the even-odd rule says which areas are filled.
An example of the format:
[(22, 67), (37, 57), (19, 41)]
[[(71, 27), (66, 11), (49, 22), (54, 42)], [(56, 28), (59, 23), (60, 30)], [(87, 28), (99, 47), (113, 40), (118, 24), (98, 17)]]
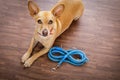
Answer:
[(56, 17), (59, 17), (64, 11), (64, 4), (59, 4), (51, 10), (52, 14)]

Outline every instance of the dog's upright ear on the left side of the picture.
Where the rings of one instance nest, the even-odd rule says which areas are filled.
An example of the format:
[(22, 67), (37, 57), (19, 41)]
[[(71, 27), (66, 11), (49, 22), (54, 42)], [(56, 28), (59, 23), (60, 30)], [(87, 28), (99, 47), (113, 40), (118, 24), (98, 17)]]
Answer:
[(32, 17), (35, 16), (36, 14), (38, 14), (38, 12), (40, 11), (37, 4), (31, 0), (28, 1), (28, 10), (30, 11), (30, 15)]

